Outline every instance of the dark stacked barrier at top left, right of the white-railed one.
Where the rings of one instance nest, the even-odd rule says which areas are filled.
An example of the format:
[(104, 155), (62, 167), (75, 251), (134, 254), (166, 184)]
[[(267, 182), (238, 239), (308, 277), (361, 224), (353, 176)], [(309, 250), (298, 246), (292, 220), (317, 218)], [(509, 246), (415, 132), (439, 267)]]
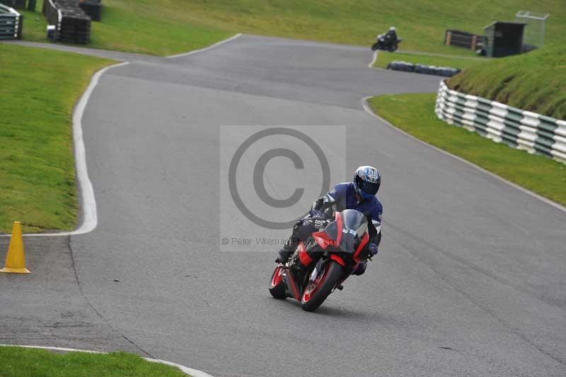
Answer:
[(81, 45), (91, 42), (91, 18), (76, 0), (45, 0), (43, 13), (48, 23), (55, 26), (55, 40)]

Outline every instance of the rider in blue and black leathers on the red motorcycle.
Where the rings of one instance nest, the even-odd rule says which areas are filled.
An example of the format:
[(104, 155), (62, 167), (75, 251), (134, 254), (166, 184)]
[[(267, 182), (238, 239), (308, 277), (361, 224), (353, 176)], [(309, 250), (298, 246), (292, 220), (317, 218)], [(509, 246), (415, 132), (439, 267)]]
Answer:
[[(363, 166), (356, 169), (351, 182), (337, 184), (325, 196), (318, 198), (306, 217), (297, 221), (289, 242), (279, 250), (277, 263), (285, 264), (294, 253), (301, 240), (306, 240), (312, 232), (324, 226), (326, 216), (322, 212), (327, 208), (342, 211), (345, 209), (359, 210), (371, 219), (376, 233), (372, 235), (366, 246), (371, 254), (377, 254), (377, 245), (381, 241), (381, 213), (383, 206), (376, 193), (381, 185), (381, 174), (374, 167)], [(331, 214), (331, 213), (330, 213)], [(367, 263), (360, 263), (354, 275), (362, 275), (366, 271)]]

